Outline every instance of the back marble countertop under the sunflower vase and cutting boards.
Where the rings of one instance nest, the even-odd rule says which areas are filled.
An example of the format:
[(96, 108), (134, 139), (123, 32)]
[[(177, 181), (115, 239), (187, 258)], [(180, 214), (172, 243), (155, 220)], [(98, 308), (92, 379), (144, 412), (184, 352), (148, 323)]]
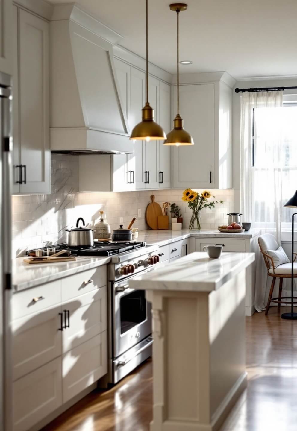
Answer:
[(260, 232), (260, 229), (250, 229), (248, 232), (241, 232), (238, 234), (219, 232), (217, 229), (201, 229), (201, 231), (190, 231), (189, 229), (182, 229), (181, 231), (172, 231), (171, 229), (156, 231), (147, 230), (139, 232), (137, 241), (146, 241), (147, 244), (159, 244), (159, 246), (162, 246), (189, 237), (253, 238), (259, 235)]

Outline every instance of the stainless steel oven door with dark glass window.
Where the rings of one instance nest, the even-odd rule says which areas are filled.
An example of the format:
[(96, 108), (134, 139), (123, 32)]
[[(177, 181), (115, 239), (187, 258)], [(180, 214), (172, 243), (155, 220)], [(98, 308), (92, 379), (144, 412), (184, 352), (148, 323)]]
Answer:
[(145, 290), (129, 287), (132, 277), (113, 284), (114, 358), (152, 333), (151, 303)]

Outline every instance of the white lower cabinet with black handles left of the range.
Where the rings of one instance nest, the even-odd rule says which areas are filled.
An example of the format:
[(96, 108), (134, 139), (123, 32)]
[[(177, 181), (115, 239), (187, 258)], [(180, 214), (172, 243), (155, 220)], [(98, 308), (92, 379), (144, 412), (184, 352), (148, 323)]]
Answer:
[(106, 266), (17, 292), (13, 306), (14, 431), (26, 431), (107, 373)]

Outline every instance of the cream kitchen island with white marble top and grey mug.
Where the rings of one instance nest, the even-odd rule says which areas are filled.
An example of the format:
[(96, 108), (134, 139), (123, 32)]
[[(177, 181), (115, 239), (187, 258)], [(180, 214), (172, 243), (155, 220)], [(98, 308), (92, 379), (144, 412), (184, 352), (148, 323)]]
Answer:
[(130, 282), (153, 313), (151, 431), (214, 431), (247, 385), (246, 268), (254, 253), (191, 253)]

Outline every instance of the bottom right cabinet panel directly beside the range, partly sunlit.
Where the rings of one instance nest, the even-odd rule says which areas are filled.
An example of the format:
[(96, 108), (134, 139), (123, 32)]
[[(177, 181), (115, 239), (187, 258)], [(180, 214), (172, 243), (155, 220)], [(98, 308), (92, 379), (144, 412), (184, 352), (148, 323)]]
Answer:
[(63, 355), (63, 403), (107, 373), (106, 332)]

